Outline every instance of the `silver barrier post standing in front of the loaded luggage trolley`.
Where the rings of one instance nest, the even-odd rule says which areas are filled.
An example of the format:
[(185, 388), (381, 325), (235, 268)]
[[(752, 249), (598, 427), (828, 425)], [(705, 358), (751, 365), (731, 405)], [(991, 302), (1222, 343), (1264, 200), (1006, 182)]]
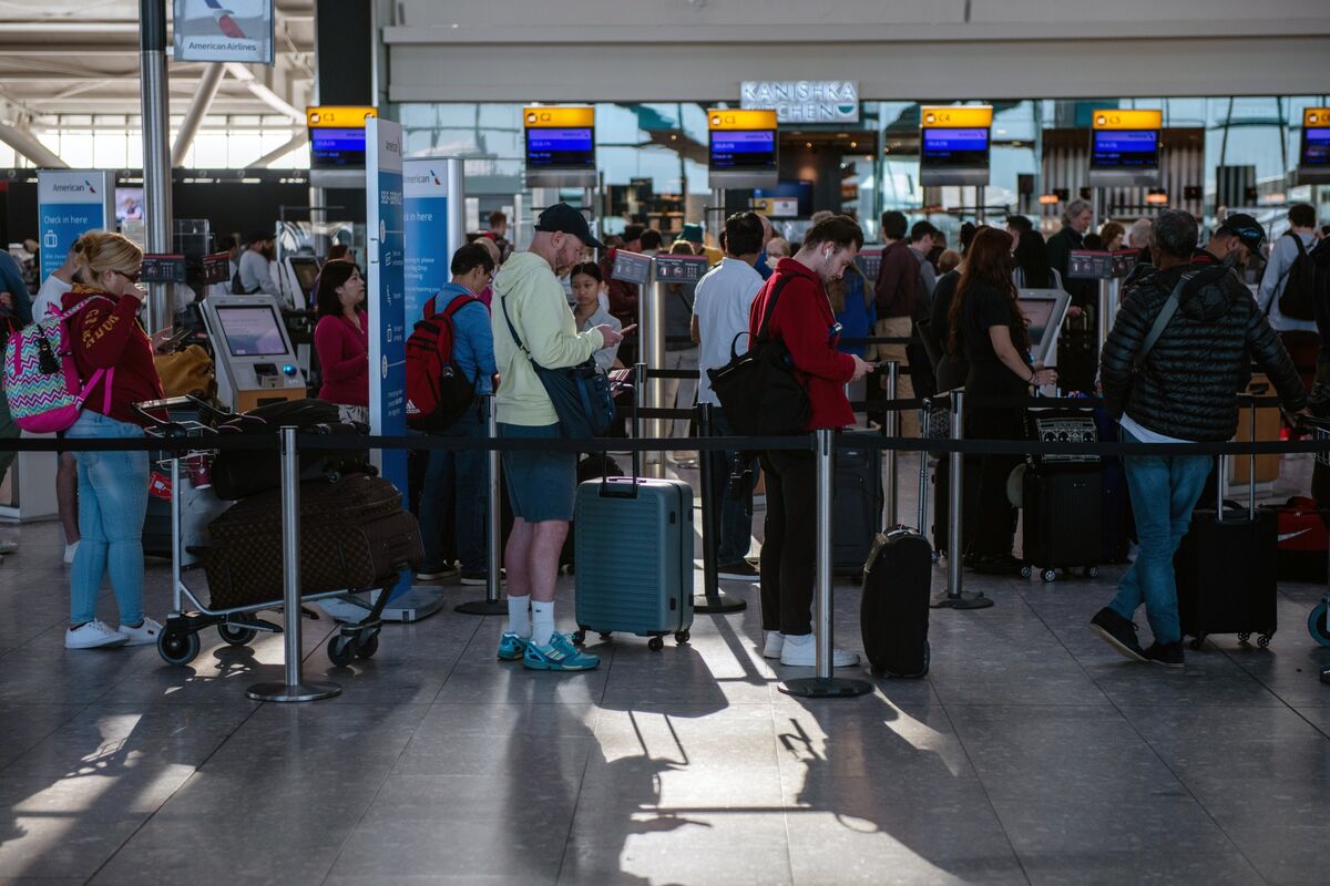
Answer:
[[(245, 695), (255, 701), (315, 701), (342, 693), (336, 683), (305, 680), (301, 647), (301, 465), (295, 432), (282, 428), (282, 631), (286, 683), (255, 683)], [(174, 473), (174, 472), (173, 472)], [(172, 494), (176, 494), (172, 487)]]

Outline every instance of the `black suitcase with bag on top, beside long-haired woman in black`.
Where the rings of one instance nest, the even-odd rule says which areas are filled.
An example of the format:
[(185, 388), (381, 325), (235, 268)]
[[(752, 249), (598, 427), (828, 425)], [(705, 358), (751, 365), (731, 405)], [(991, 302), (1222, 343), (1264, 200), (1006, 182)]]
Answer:
[[(1097, 442), (1091, 409), (1031, 409), (1027, 433), (1036, 442)], [(1023, 559), (1045, 582), (1057, 570), (1099, 575), (1104, 557), (1104, 473), (1099, 456), (1029, 458), (1021, 482)]]

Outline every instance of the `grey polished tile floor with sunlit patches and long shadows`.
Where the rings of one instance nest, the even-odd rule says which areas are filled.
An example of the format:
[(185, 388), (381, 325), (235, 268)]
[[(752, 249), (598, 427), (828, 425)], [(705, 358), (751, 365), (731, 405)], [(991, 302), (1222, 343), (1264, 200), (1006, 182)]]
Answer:
[[(1178, 673), (1087, 632), (1116, 570), (967, 576), (996, 606), (934, 614), (926, 680), (835, 701), (777, 689), (794, 673), (755, 651), (745, 584), (728, 590), (753, 607), (698, 616), (689, 646), (614, 639), (583, 675), (496, 663), (500, 622), (451, 608), (338, 669), (325, 618), (305, 624), (306, 673), (344, 692), (274, 705), (245, 688), (281, 677), (278, 638), (209, 632), (188, 668), (153, 648), (66, 652), (57, 530), (20, 535), (0, 565), (0, 886), (1330, 877), (1311, 584), (1282, 587), (1269, 651), (1222, 636)], [(149, 570), (158, 615), (166, 580)], [(567, 580), (564, 619), (571, 600)], [(857, 612), (838, 586), (842, 644), (858, 646)]]

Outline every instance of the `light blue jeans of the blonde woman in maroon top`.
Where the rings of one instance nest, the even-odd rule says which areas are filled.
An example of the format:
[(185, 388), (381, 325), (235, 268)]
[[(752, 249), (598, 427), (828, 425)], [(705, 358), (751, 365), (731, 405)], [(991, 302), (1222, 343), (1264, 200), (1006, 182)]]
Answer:
[[(84, 409), (66, 440), (142, 438), (144, 429)], [(69, 573), (69, 620), (97, 618), (101, 579), (120, 604), (120, 623), (144, 620), (144, 515), (148, 511), (146, 452), (76, 452), (78, 462), (78, 551)]]

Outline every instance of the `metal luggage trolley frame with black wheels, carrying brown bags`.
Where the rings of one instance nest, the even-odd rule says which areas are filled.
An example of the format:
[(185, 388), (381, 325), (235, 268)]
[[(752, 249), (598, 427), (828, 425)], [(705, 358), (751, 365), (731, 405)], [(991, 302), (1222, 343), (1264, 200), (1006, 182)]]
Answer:
[[(181, 497), (174, 494), (174, 490), (181, 487), (184, 470), (188, 470), (182, 469), (181, 462), (188, 461), (192, 466), (190, 469), (206, 465), (214, 454), (214, 450), (207, 446), (207, 438), (215, 433), (207, 421), (172, 417), (172, 410), (178, 412), (186, 408), (196, 410), (207, 420), (215, 421), (231, 417), (230, 413), (217, 409), (203, 400), (193, 396), (170, 397), (166, 400), (152, 400), (134, 404), (134, 412), (148, 422), (145, 428), (145, 433), (148, 436), (164, 440), (189, 437), (200, 441), (197, 449), (192, 448), (186, 453), (170, 453), (162, 461), (162, 466), (169, 470), (173, 490), (170, 497), (172, 610), (166, 616), (166, 624), (162, 626), (161, 635), (157, 638), (157, 652), (168, 664), (176, 665), (189, 664), (198, 656), (202, 650), (202, 642), (200, 640), (198, 634), (209, 627), (215, 627), (218, 636), (221, 636), (222, 640), (230, 646), (249, 646), (254, 638), (259, 635), (259, 632), (282, 632), (282, 627), (279, 624), (257, 618), (257, 612), (263, 610), (282, 608), (282, 588), (275, 588), (274, 596), (270, 600), (249, 606), (214, 610), (205, 606), (200, 596), (181, 576), (184, 566), (182, 557), (185, 554), (181, 543)], [(160, 414), (154, 414), (161, 412), (165, 412), (168, 417), (162, 418)], [(368, 659), (378, 651), (379, 631), (383, 628), (380, 616), (383, 615), (383, 608), (388, 603), (388, 598), (392, 596), (392, 588), (396, 587), (396, 583), (398, 576), (392, 575), (384, 579), (382, 587), (343, 588), (319, 594), (303, 594), (301, 596), (302, 600), (307, 602), (334, 598), (348, 599), (367, 611), (363, 620), (352, 624), (343, 624), (340, 630), (334, 634), (331, 639), (329, 639), (327, 654), (329, 660), (331, 660), (334, 665), (344, 667), (356, 658)], [(375, 591), (382, 592), (375, 595)], [(355, 599), (359, 594), (370, 594), (371, 603), (366, 606), (363, 600)], [(186, 602), (189, 604), (188, 607), (185, 606)]]

